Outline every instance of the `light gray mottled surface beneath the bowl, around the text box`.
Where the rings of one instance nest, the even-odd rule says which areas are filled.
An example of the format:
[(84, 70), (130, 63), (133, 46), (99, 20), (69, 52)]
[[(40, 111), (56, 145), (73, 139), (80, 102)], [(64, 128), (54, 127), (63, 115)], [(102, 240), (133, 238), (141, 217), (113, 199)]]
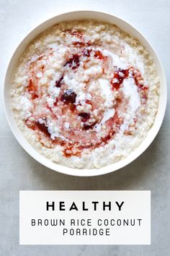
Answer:
[[(112, 12), (131, 22), (156, 49), (170, 80), (170, 1), (169, 0), (0, 0), (0, 79), (12, 51), (30, 29), (48, 17), (78, 9)], [(169, 102), (166, 117), (156, 140), (146, 153), (112, 174), (74, 177), (43, 167), (22, 150), (14, 139), (0, 103), (0, 255), (106, 255), (168, 256), (169, 225)], [(151, 246), (19, 246), (19, 189), (151, 189)]]

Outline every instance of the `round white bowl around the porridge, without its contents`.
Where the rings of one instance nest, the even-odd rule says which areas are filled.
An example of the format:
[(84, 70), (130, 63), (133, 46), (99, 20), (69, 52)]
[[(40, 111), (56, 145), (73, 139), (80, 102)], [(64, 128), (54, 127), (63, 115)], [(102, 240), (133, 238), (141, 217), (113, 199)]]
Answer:
[[(102, 20), (104, 22), (113, 23), (118, 27), (120, 27), (122, 30), (125, 30), (125, 32), (129, 33), (130, 35), (133, 35), (135, 38), (138, 38), (140, 40), (140, 43), (142, 43), (143, 46), (146, 47), (147, 51), (151, 54), (151, 56), (153, 56), (153, 59), (156, 63), (156, 69), (158, 71), (158, 75), (161, 80), (158, 113), (156, 114), (156, 120), (153, 124), (153, 127), (151, 127), (145, 140), (143, 140), (140, 146), (135, 151), (133, 151), (133, 153), (130, 153), (130, 155), (128, 155), (128, 158), (125, 158), (121, 161), (118, 161), (117, 163), (112, 163), (109, 166), (104, 166), (98, 169), (69, 168), (66, 166), (61, 166), (59, 164), (53, 163), (50, 160), (48, 160), (48, 158), (45, 158), (44, 156), (40, 155), (40, 153), (38, 153), (34, 148), (32, 148), (32, 145), (30, 145), (30, 143), (27, 142), (27, 140), (22, 135), (22, 132), (20, 132), (19, 128), (17, 127), (17, 124), (14, 121), (14, 116), (12, 114), (12, 109), (10, 106), (11, 100), (9, 95), (9, 91), (11, 88), (12, 72), (14, 70), (14, 67), (17, 65), (19, 56), (23, 54), (25, 48), (33, 38), (35, 38), (42, 31), (46, 30), (48, 27), (51, 27), (58, 22), (68, 21), (68, 20), (86, 20), (86, 19)], [(44, 166), (47, 166), (48, 168), (51, 168), (55, 171), (59, 171), (63, 174), (70, 174), (75, 176), (95, 176), (100, 174), (107, 174), (111, 171), (116, 171), (122, 168), (123, 166), (128, 165), (128, 163), (131, 163), (133, 160), (135, 160), (135, 158), (138, 158), (138, 156), (141, 155), (143, 151), (146, 150), (146, 148), (148, 148), (148, 146), (154, 140), (154, 138), (158, 133), (158, 130), (161, 127), (161, 123), (164, 119), (164, 114), (166, 110), (166, 98), (167, 98), (167, 91), (166, 91), (166, 78), (164, 74), (164, 69), (161, 65), (161, 61), (158, 59), (156, 52), (153, 50), (153, 47), (148, 42), (148, 40), (146, 40), (146, 38), (138, 30), (136, 30), (132, 25), (128, 24), (128, 22), (125, 22), (124, 20), (118, 17), (115, 17), (111, 14), (94, 12), (94, 11), (78, 11), (78, 12), (68, 12), (65, 14), (60, 14), (56, 17), (51, 18), (50, 20), (43, 22), (38, 27), (35, 27), (35, 29), (32, 30), (26, 36), (26, 38), (24, 38), (24, 40), (22, 40), (22, 42), (17, 47), (17, 50), (14, 52), (12, 59), (9, 63), (9, 67), (6, 71), (6, 77), (4, 82), (4, 106), (6, 110), (6, 117), (14, 136), (16, 137), (19, 144), (22, 145), (22, 148), (24, 148), (24, 150), (26, 150), (27, 153), (29, 153), (32, 156), (32, 158), (35, 158), (35, 160), (42, 163)]]

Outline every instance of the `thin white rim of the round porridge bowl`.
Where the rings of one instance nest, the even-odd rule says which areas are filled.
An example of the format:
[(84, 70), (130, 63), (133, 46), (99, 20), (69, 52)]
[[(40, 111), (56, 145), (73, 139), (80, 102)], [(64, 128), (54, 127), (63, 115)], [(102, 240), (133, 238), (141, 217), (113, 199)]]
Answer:
[[(66, 18), (66, 16), (72, 15), (74, 16), (75, 14), (75, 19), (68, 19)], [(76, 15), (79, 14), (94, 14), (95, 15), (99, 15), (99, 19), (97, 19), (96, 17), (93, 18), (81, 18), (81, 19), (76, 19)], [(40, 30), (41, 27), (47, 25), (47, 27), (45, 27), (44, 29), (42, 29), (42, 31), (45, 31), (46, 29), (50, 28), (51, 26), (55, 25), (58, 23), (58, 21), (53, 22), (53, 20), (58, 20), (58, 19), (62, 19), (63, 17), (63, 21), (69, 21), (69, 20), (102, 20), (103, 22), (106, 22), (106, 18), (108, 17), (108, 19), (110, 18), (110, 23), (114, 24), (114, 22), (112, 22), (111, 20), (117, 20), (117, 22), (121, 22), (122, 24), (124, 24), (125, 26), (129, 27), (130, 30), (132, 30), (134, 33), (136, 33), (138, 36), (136, 36), (136, 38), (138, 38), (139, 40), (143, 40), (147, 47), (147, 51), (152, 51), (151, 56), (156, 59), (156, 68), (158, 69), (157, 66), (159, 66), (159, 71), (161, 73), (161, 82), (162, 82), (162, 86), (164, 86), (164, 101), (162, 101), (161, 103), (163, 103), (163, 105), (161, 106), (161, 114), (158, 116), (159, 120), (156, 123), (156, 119), (153, 123), (153, 127), (155, 128), (153, 130), (153, 133), (151, 134), (151, 129), (150, 129), (150, 138), (147, 141), (148, 135), (144, 138), (144, 140), (140, 143), (140, 145), (135, 148), (135, 150), (130, 153), (126, 158), (117, 161), (116, 163), (111, 163), (108, 166), (104, 166), (102, 168), (91, 168), (91, 169), (87, 169), (87, 168), (71, 168), (68, 166), (63, 166), (61, 164), (58, 163), (53, 163), (52, 161), (50, 161), (48, 158), (46, 158), (43, 155), (40, 155), (40, 153), (37, 152), (37, 150), (35, 150), (35, 148), (33, 148), (32, 145), (30, 145), (30, 142), (27, 142), (27, 139), (22, 135), (22, 132), (20, 131), (19, 127), (14, 127), (14, 122), (12, 124), (12, 119), (10, 119), (10, 115), (8, 112), (8, 105), (10, 105), (10, 103), (6, 103), (6, 81), (8, 80), (8, 77), (10, 77), (9, 73), (10, 73), (10, 69), (12, 66), (12, 61), (15, 61), (17, 63), (17, 60), (15, 60), (15, 56), (17, 55), (18, 51), (20, 48), (23, 47), (26, 48), (26, 46), (31, 43), (31, 40), (28, 40), (28, 38), (34, 34), (37, 30)], [(105, 18), (105, 20), (104, 20)], [(53, 25), (48, 25), (50, 23), (53, 23)], [(117, 25), (117, 24), (116, 24)], [(119, 25), (118, 25), (119, 26)], [(121, 26), (120, 26), (121, 28)], [(42, 31), (40, 33), (42, 33)], [(128, 33), (128, 31), (125, 31), (126, 33)], [(39, 33), (37, 33), (36, 35), (34, 35), (33, 38), (35, 38)], [(132, 35), (133, 33), (129, 33), (130, 35)], [(26, 43), (25, 43), (26, 42)], [(143, 45), (143, 43), (142, 43)], [(22, 53), (23, 54), (23, 53)], [(21, 54), (20, 54), (21, 56)], [(159, 74), (160, 77), (160, 74)], [(160, 82), (160, 87), (161, 87), (161, 82)], [(123, 20), (120, 17), (117, 17), (115, 14), (111, 14), (109, 12), (98, 12), (98, 11), (94, 11), (94, 10), (76, 10), (76, 11), (72, 11), (72, 12), (63, 12), (61, 14), (57, 14), (53, 17), (50, 17), (48, 19), (45, 19), (45, 21), (40, 22), (39, 25), (36, 25), (33, 29), (30, 29), (30, 31), (27, 33), (27, 35), (24, 36), (24, 38), (22, 38), (22, 40), (20, 40), (20, 42), (17, 44), (17, 48), (14, 49), (11, 58), (9, 59), (9, 64), (6, 67), (6, 72), (5, 72), (5, 77), (4, 77), (4, 85), (3, 85), (3, 105), (4, 105), (4, 112), (6, 115), (6, 119), (8, 121), (9, 127), (12, 130), (12, 133), (14, 135), (14, 137), (16, 138), (16, 140), (19, 142), (19, 144), (22, 146), (22, 148), (24, 148), (24, 150), (32, 156), (32, 158), (34, 158), (36, 161), (38, 161), (39, 163), (41, 163), (43, 166), (50, 168), (53, 171), (58, 171), (62, 174), (68, 174), (71, 176), (99, 176), (99, 175), (103, 175), (103, 174), (108, 174), (112, 171), (118, 171), (120, 168), (123, 168), (125, 166), (127, 166), (128, 164), (132, 163), (133, 161), (135, 161), (136, 158), (138, 158), (148, 147), (149, 145), (151, 145), (151, 143), (153, 142), (153, 140), (155, 139), (156, 135), (158, 134), (159, 129), (161, 128), (161, 124), (164, 120), (164, 115), (165, 115), (165, 111), (166, 111), (166, 103), (167, 103), (167, 85), (166, 85), (166, 76), (165, 76), (165, 72), (164, 72), (164, 68), (161, 64), (161, 60), (159, 59), (158, 55), (156, 54), (156, 51), (154, 50), (153, 46), (151, 45), (151, 43), (148, 41), (148, 39), (146, 38), (146, 36), (143, 35), (143, 33), (140, 33), (140, 31), (138, 29), (136, 29), (133, 25), (131, 25), (131, 23), (126, 22), (125, 20)], [(160, 96), (159, 96), (159, 103), (158, 103), (158, 108), (160, 106)], [(12, 110), (11, 110), (12, 111)], [(156, 114), (157, 116), (158, 114)], [(157, 124), (157, 125), (156, 125)], [(16, 124), (17, 125), (17, 124)], [(149, 133), (148, 132), (148, 133)], [(145, 142), (145, 144), (143, 144), (143, 142)], [(143, 145), (143, 147), (141, 147)]]

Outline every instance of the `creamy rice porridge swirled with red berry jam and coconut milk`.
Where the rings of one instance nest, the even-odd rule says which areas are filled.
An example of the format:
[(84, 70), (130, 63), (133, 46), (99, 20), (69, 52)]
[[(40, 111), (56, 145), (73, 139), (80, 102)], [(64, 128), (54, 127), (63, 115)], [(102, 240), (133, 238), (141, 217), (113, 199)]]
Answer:
[(61, 22), (20, 59), (12, 109), (24, 137), (46, 158), (100, 168), (140, 145), (158, 91), (155, 64), (138, 40), (104, 22)]

